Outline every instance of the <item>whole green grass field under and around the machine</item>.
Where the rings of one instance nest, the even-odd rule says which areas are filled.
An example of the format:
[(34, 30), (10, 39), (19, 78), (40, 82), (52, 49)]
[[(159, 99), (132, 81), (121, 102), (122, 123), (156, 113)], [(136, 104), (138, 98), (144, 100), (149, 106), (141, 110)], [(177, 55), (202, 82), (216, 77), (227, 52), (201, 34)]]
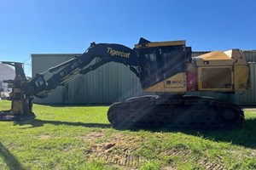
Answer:
[[(10, 103), (0, 100), (0, 111)], [(256, 112), (232, 130), (115, 130), (108, 106), (34, 105), (0, 122), (0, 169), (256, 169)]]

